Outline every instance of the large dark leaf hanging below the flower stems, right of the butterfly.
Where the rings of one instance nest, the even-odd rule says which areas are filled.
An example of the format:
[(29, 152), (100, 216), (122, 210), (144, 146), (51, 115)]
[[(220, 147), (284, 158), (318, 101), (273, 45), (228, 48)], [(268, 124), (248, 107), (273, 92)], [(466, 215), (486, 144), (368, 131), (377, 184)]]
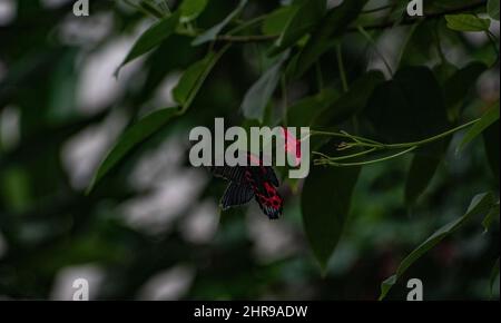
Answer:
[[(332, 147), (335, 147), (333, 141), (322, 151), (335, 156), (338, 151)], [(303, 224), (313, 254), (324, 271), (348, 217), (360, 170), (360, 167), (313, 166), (304, 183), (301, 198)]]

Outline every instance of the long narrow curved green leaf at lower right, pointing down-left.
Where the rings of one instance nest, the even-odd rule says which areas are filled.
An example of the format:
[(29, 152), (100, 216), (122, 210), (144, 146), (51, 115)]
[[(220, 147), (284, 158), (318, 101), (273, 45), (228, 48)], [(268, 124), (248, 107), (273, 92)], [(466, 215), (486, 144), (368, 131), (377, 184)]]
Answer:
[(414, 262), (438, 245), (442, 239), (461, 228), (472, 217), (489, 213), (494, 204), (495, 199), (492, 193), (483, 193), (473, 197), (470, 207), (463, 216), (438, 229), (400, 263), (396, 273), (381, 284), (380, 301), (386, 296), (392, 286)]

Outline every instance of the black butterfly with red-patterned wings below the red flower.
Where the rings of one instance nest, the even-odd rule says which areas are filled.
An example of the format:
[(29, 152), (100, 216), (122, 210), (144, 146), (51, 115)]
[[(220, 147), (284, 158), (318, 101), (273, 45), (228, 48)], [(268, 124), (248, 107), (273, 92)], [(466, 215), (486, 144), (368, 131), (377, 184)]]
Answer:
[[(223, 211), (244, 205), (255, 199), (269, 219), (277, 219), (283, 212), (284, 199), (277, 192), (279, 186), (275, 170), (263, 163), (250, 166), (213, 166), (216, 177), (229, 182), (220, 199)], [(256, 164), (256, 163), (254, 163)]]

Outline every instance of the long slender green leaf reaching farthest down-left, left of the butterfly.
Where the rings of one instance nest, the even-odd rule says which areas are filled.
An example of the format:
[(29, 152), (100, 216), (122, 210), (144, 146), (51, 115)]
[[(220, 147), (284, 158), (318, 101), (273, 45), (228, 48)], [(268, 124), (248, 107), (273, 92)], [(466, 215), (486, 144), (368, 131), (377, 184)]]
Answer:
[(178, 109), (168, 108), (157, 110), (144, 117), (130, 128), (128, 128), (119, 138), (105, 160), (99, 165), (87, 193), (90, 193), (96, 184), (105, 177), (117, 164), (127, 156), (135, 147), (148, 139), (153, 134), (167, 125), (175, 116)]

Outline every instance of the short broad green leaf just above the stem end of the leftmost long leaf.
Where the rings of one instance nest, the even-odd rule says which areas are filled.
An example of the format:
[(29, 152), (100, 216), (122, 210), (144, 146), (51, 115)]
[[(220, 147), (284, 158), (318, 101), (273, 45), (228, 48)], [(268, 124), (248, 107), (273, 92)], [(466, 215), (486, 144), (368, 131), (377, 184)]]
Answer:
[(208, 77), (216, 62), (228, 49), (228, 46), (216, 52), (209, 52), (204, 59), (191, 65), (181, 76), (177, 86), (173, 89), (173, 96), (176, 102), (185, 111), (195, 99), (198, 90)]

